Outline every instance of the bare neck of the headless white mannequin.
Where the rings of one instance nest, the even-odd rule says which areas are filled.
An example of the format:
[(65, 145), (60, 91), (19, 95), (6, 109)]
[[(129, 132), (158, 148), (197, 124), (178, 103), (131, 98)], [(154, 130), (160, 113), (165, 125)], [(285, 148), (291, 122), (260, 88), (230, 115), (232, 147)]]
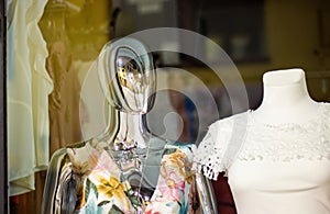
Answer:
[(270, 71), (263, 76), (264, 97), (254, 114), (272, 124), (302, 123), (317, 108), (308, 93), (304, 70)]

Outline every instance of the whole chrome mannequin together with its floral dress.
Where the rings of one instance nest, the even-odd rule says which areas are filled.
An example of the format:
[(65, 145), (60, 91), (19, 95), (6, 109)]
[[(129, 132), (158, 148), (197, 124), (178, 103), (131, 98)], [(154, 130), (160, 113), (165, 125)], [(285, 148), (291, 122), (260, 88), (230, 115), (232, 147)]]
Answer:
[(154, 102), (155, 68), (145, 46), (129, 37), (107, 44), (98, 71), (116, 111), (105, 134), (54, 154), (42, 213), (215, 211), (208, 183), (191, 170), (195, 145), (147, 129), (144, 116)]

